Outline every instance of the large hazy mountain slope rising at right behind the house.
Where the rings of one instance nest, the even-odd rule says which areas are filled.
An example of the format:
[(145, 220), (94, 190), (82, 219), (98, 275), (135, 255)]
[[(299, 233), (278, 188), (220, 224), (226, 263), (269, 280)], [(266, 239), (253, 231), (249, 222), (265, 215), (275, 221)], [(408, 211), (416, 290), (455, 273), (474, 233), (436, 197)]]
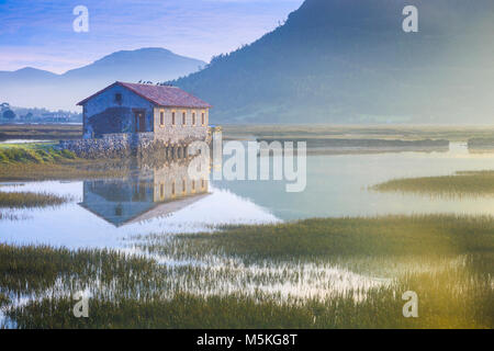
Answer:
[[(406, 5), (418, 33), (402, 30)], [(492, 0), (306, 0), (172, 83), (214, 123), (492, 123), (493, 32)]]

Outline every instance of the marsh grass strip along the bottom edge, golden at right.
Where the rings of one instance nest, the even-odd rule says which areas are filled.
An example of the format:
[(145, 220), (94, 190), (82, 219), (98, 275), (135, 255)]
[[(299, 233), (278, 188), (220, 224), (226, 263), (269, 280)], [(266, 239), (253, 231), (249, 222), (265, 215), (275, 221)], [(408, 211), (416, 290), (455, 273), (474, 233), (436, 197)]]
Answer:
[[(491, 281), (469, 268), (406, 274), (356, 302), (347, 292), (326, 299), (279, 301), (277, 296), (228, 294), (89, 299), (89, 318), (75, 318), (70, 296), (33, 299), (10, 308), (18, 328), (492, 328)], [(402, 293), (419, 296), (419, 317), (404, 318)]]

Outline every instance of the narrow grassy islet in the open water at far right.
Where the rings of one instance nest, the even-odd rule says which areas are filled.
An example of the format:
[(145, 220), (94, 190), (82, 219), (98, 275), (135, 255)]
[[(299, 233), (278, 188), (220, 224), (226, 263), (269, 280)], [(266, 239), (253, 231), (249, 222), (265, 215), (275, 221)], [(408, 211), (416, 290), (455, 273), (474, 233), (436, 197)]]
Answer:
[(494, 171), (461, 171), (453, 176), (393, 179), (377, 184), (380, 192), (411, 192), (448, 197), (494, 195)]

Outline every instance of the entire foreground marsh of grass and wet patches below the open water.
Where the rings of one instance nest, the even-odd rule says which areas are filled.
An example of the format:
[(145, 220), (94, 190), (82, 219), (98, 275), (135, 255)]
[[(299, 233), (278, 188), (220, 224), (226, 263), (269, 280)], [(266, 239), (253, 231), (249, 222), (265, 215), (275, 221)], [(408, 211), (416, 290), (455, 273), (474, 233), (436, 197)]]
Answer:
[[(389, 216), (135, 237), (133, 254), (0, 245), (0, 294), (12, 301), (4, 322), (18, 328), (493, 328), (493, 229), (491, 217)], [(201, 264), (209, 259), (215, 264)], [(182, 264), (173, 264), (178, 260)], [(372, 284), (329, 291), (345, 282), (343, 262), (358, 271), (351, 262), (359, 260), (392, 273), (368, 271)], [(325, 275), (336, 269), (336, 276)], [(312, 290), (315, 280), (321, 285), (311, 296), (276, 288)], [(88, 318), (72, 314), (79, 291), (90, 296)], [(403, 317), (406, 291), (418, 295), (418, 318)]]

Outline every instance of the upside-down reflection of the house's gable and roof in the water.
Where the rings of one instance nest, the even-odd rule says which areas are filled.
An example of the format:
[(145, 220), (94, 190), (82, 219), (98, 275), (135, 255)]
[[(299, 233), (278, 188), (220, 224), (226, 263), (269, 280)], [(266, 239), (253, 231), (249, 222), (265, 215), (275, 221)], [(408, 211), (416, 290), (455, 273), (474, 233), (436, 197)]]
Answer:
[[(79, 206), (86, 208), (96, 216), (104, 219), (105, 222), (114, 225), (115, 227), (121, 227), (132, 223), (138, 223), (155, 217), (162, 217), (179, 210), (186, 208), (187, 206), (193, 204), (194, 202), (207, 196), (210, 193), (200, 193), (197, 195), (189, 195), (186, 197), (179, 197), (173, 201), (168, 202), (149, 202), (149, 203), (134, 203), (132, 214), (127, 216), (109, 216), (106, 211), (117, 206), (117, 202), (98, 202), (97, 206), (93, 206), (94, 202), (81, 202)], [(127, 203), (128, 204), (128, 203)], [(138, 205), (148, 205), (138, 208)]]

